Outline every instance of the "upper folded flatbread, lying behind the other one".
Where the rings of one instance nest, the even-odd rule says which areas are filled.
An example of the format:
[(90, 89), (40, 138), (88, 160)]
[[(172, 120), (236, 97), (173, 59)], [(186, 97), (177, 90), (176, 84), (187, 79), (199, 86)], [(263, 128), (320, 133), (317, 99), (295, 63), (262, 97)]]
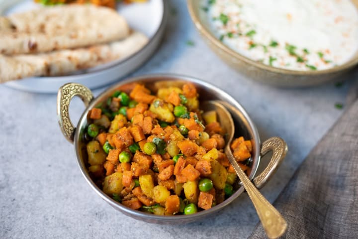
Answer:
[(108, 7), (47, 6), (0, 17), (0, 53), (39, 53), (86, 47), (129, 35), (121, 15)]

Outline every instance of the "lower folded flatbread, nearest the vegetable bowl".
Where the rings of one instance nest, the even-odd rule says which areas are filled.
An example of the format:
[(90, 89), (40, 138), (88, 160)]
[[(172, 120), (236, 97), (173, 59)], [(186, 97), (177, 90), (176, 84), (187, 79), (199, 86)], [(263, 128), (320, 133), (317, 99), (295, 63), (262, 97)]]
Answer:
[(143, 48), (148, 37), (133, 32), (121, 41), (42, 54), (0, 54), (0, 83), (33, 76), (60, 76), (123, 59)]

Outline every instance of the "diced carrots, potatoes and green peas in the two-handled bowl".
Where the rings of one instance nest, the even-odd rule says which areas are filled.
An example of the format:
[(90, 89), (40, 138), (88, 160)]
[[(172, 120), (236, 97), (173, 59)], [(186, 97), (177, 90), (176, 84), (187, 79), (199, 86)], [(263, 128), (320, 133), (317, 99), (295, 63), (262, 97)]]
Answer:
[[(114, 200), (155, 215), (194, 214), (223, 202), (237, 179), (223, 153), (225, 132), (214, 111), (201, 112), (191, 83), (119, 87), (89, 111), (84, 140), (92, 180)], [(250, 174), (252, 144), (238, 137), (233, 154)]]

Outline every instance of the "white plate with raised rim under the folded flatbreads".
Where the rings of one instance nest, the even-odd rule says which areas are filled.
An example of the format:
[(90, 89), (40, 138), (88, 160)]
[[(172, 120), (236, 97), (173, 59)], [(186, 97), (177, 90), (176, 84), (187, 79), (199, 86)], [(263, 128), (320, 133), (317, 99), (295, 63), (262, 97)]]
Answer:
[[(0, 0), (0, 14), (8, 15), (38, 7), (33, 0)], [(168, 16), (166, 0), (148, 0), (145, 3), (119, 4), (119, 14), (129, 26), (148, 36), (149, 42), (137, 53), (117, 61), (112, 61), (68, 76), (31, 77), (5, 83), (18, 90), (36, 93), (57, 93), (69, 82), (83, 84), (90, 89), (98, 88), (119, 80), (142, 65), (156, 50), (162, 39)]]

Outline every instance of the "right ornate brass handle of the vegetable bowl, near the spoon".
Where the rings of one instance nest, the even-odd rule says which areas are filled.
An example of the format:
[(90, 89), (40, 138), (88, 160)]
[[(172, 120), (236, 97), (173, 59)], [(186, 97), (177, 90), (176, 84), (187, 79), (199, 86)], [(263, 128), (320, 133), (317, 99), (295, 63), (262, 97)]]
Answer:
[(276, 172), (278, 166), (286, 156), (287, 150), (286, 142), (280, 137), (271, 137), (262, 144), (261, 156), (263, 157), (269, 151), (272, 151), (272, 157), (269, 161), (269, 165), (253, 180), (253, 183), (258, 189), (262, 188)]

